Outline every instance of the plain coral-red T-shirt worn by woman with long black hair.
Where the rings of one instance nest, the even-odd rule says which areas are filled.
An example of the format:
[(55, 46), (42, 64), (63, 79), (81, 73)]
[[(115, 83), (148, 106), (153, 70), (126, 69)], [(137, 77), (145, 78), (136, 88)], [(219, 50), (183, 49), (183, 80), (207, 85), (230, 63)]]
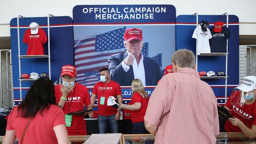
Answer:
[[(24, 144), (58, 144), (53, 127), (65, 125), (63, 111), (58, 105), (50, 105), (50, 108), (45, 108), (42, 114), (37, 112), (32, 118), (23, 140)], [(14, 107), (7, 120), (6, 130), (14, 129), (18, 140), (21, 140), (30, 118), (17, 115), (18, 107)]]

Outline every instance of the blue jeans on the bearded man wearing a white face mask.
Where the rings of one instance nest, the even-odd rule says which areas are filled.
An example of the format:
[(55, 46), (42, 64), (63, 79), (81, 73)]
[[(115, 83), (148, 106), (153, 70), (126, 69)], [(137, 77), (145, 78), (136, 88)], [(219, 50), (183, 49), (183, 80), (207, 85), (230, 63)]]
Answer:
[(115, 120), (115, 114), (110, 116), (98, 115), (98, 123), (100, 133), (106, 133), (108, 123), (111, 128), (111, 133), (118, 133), (118, 121)]

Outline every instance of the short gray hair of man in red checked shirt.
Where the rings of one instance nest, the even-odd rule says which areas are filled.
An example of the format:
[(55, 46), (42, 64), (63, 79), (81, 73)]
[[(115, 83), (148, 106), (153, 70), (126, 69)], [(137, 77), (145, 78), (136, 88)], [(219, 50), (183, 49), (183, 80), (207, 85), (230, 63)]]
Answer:
[(191, 50), (177, 50), (173, 54), (172, 63), (181, 68), (195, 68), (195, 54)]

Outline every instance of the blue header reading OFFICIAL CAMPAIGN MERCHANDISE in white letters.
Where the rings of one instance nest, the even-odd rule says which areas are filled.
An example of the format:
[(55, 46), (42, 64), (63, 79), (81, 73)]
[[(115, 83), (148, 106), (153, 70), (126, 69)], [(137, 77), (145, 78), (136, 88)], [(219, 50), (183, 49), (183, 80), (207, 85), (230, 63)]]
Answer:
[(79, 24), (175, 24), (173, 5), (80, 5), (73, 8)]

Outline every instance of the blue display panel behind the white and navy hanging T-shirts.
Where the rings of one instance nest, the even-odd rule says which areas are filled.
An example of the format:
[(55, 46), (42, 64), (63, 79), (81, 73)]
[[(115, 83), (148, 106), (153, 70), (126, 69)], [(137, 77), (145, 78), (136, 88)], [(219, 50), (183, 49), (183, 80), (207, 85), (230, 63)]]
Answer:
[[(222, 21), (226, 25), (226, 15), (198, 15), (198, 23), (202, 20), (207, 21), (209, 29), (217, 21)], [(192, 38), (193, 32), (196, 28), (196, 16), (193, 15), (179, 15), (176, 18), (176, 50), (186, 48), (196, 53), (196, 39)], [(200, 25), (199, 25), (200, 26)], [(228, 28), (230, 30), (230, 37), (228, 38), (228, 73), (227, 78), (227, 96), (229, 96), (239, 84), (239, 19), (236, 15), (228, 16)], [(198, 56), (198, 72), (200, 71), (226, 71), (226, 56)], [(218, 99), (225, 96), (225, 79), (202, 79), (209, 85), (213, 86), (213, 91)], [(223, 99), (221, 99), (223, 100)], [(224, 102), (223, 102), (224, 103)]]

